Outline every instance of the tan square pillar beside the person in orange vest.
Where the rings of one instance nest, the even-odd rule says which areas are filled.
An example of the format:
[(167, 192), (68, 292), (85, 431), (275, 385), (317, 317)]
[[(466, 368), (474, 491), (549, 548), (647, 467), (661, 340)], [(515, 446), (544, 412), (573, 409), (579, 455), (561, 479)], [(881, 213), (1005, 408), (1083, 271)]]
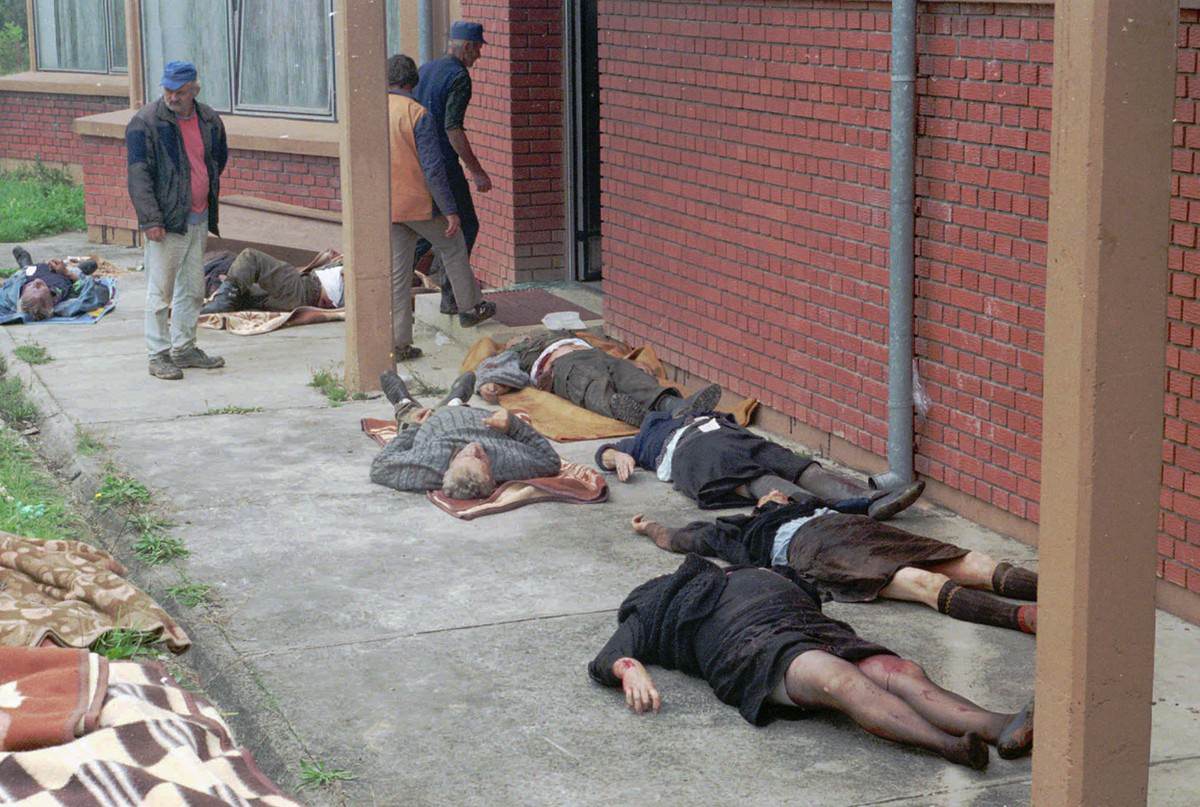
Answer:
[(384, 0), (337, 0), (334, 35), (342, 125), (346, 387), (379, 389), (391, 343), (391, 173)]

